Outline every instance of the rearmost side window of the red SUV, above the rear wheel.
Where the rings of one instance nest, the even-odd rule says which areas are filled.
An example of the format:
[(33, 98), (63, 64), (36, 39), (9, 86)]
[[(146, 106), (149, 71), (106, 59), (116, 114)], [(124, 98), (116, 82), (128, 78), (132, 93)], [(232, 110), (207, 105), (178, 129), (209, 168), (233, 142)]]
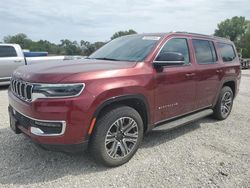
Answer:
[(235, 59), (236, 54), (232, 45), (219, 43), (219, 49), (224, 62), (233, 61)]

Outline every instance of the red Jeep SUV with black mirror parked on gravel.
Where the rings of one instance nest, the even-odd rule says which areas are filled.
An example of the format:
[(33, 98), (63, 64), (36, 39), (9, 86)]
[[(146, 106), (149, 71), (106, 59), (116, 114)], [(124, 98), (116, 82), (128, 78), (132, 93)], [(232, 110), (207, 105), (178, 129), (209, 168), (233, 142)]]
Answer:
[(18, 68), (10, 125), (44, 148), (88, 147), (96, 161), (129, 161), (143, 135), (231, 112), (241, 77), (234, 44), (175, 32), (117, 38), (85, 60)]

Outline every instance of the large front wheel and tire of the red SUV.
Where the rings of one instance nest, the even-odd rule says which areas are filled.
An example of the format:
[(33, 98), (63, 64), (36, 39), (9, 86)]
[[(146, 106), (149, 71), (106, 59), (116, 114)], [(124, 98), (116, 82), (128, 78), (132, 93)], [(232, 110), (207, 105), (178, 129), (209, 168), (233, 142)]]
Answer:
[(128, 162), (143, 139), (140, 114), (128, 106), (117, 106), (97, 120), (90, 139), (90, 153), (99, 164), (115, 167)]

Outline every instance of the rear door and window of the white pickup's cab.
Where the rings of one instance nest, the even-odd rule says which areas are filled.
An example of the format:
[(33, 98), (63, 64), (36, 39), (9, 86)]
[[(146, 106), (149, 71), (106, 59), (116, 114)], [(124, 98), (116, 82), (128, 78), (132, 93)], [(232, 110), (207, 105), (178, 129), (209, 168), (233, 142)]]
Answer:
[(11, 45), (0, 45), (0, 81), (6, 81), (13, 71), (24, 65), (24, 57), (18, 56), (16, 49)]

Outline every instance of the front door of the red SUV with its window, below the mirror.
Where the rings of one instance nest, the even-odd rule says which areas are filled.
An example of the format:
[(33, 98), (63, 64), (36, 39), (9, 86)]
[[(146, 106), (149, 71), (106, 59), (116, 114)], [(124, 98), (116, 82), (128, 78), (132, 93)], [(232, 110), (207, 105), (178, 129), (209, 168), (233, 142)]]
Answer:
[[(155, 74), (155, 121), (161, 122), (191, 112), (195, 108), (195, 66), (190, 55), (188, 38), (171, 38), (160, 53), (177, 52), (184, 56), (184, 65), (169, 65)], [(157, 58), (157, 57), (156, 57)]]

